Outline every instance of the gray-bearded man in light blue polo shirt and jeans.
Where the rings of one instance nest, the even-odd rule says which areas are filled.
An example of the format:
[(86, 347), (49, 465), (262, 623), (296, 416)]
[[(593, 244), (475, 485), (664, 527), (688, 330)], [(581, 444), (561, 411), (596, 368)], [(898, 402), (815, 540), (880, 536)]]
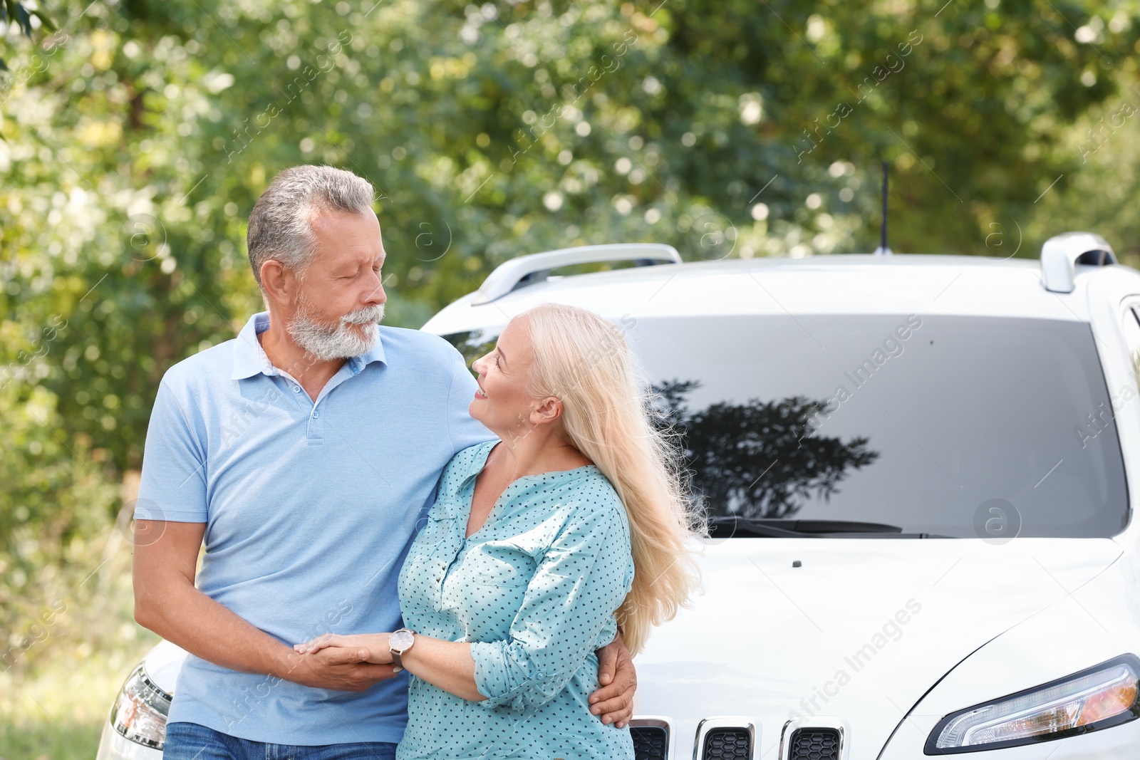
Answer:
[[(133, 578), (136, 620), (189, 652), (166, 760), (385, 760), (404, 733), (407, 673), (292, 645), (401, 627), (397, 575), (440, 473), (494, 436), (458, 351), (380, 327), (372, 203), (351, 172), (278, 174), (247, 238), (268, 312), (158, 386)], [(633, 665), (620, 639), (598, 657), (593, 711), (621, 726)]]

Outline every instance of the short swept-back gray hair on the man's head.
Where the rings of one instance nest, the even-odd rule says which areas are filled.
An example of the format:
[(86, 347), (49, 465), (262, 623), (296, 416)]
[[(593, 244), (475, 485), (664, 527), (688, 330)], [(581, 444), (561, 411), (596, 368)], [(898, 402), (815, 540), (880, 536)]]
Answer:
[(293, 166), (269, 185), (250, 214), (246, 247), (258, 287), (261, 264), (270, 259), (299, 276), (304, 275), (316, 253), (311, 221), (320, 212), (372, 210), (372, 183), (352, 172), (333, 166)]

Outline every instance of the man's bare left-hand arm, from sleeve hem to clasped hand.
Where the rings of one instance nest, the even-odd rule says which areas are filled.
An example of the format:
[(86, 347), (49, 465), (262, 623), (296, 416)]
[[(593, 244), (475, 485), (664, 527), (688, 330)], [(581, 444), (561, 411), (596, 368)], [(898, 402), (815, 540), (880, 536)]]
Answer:
[[(194, 586), (205, 523), (136, 521), (135, 620), (187, 652), (230, 670), (266, 673), (342, 692), (392, 677), (391, 665), (363, 662), (356, 649), (302, 655)], [(157, 537), (157, 538), (155, 538)]]

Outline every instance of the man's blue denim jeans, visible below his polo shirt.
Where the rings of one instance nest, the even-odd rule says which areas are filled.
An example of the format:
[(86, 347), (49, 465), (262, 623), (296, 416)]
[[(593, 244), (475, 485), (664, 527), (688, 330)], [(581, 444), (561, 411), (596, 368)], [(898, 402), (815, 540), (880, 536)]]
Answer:
[(229, 736), (197, 724), (166, 724), (162, 760), (396, 760), (388, 742), (294, 746)]

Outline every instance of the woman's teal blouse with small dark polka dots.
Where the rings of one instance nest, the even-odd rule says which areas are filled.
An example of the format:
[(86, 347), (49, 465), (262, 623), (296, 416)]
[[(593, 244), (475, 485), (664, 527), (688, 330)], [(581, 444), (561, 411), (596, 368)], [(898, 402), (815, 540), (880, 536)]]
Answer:
[(594, 465), (526, 475), (465, 538), (475, 475), (498, 441), (459, 451), (400, 571), (412, 630), (471, 641), (472, 702), (415, 676), (398, 760), (606, 758), (633, 760), (628, 728), (603, 725), (587, 698), (594, 651), (617, 634), (629, 593), (629, 524)]

